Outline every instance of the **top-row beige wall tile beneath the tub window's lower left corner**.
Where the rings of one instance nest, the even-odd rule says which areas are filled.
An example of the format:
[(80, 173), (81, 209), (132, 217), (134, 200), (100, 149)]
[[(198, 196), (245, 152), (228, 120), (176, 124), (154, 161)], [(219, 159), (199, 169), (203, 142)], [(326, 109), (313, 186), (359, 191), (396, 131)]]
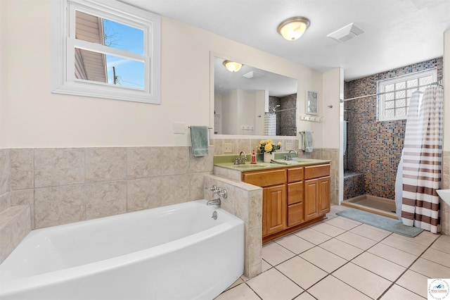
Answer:
[(84, 149), (34, 149), (34, 187), (84, 183)]

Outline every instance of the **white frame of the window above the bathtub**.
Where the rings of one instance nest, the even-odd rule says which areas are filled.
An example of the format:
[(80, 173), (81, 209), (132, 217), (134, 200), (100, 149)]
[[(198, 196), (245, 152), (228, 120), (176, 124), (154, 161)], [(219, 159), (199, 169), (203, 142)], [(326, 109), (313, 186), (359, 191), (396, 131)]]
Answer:
[[(143, 56), (75, 39), (75, 9), (143, 30)], [(161, 19), (159, 15), (115, 0), (54, 0), (51, 1), (51, 22), (51, 92), (160, 104)], [(136, 89), (76, 79), (75, 46), (143, 61), (145, 87)]]

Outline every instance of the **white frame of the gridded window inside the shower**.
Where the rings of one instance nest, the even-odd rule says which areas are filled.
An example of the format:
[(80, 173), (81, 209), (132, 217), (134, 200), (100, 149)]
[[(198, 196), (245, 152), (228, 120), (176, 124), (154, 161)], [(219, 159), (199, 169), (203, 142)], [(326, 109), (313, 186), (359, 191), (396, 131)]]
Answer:
[[(393, 116), (393, 117), (386, 117), (385, 115), (385, 94), (387, 94), (388, 92), (385, 92), (385, 87), (387, 85), (392, 85), (399, 82), (407, 82), (408, 80), (418, 80), (418, 78), (420, 77), (428, 77), (431, 76), (432, 77), (432, 82), (437, 82), (437, 68), (432, 68), (432, 69), (428, 69), (428, 70), (423, 70), (423, 71), (418, 71), (415, 73), (409, 73), (406, 75), (401, 75), (398, 77), (393, 77), (387, 80), (380, 80), (377, 82), (378, 85), (378, 121), (383, 122), (383, 121), (392, 121), (392, 120), (404, 120), (406, 119), (406, 116), (408, 114), (408, 108), (409, 108), (409, 97), (407, 97), (406, 94), (406, 89), (408, 89), (407, 87), (405, 87), (405, 89), (394, 89), (394, 93), (395, 92), (399, 92), (399, 91), (405, 91), (405, 97), (406, 97), (406, 114), (405, 115), (401, 115), (401, 116)], [(406, 84), (405, 84), (406, 86)], [(412, 89), (416, 89), (416, 90), (420, 90), (420, 91), (424, 91), (428, 86), (430, 86), (430, 84), (427, 85), (418, 85), (417, 87), (412, 87), (409, 88), (410, 90)]]

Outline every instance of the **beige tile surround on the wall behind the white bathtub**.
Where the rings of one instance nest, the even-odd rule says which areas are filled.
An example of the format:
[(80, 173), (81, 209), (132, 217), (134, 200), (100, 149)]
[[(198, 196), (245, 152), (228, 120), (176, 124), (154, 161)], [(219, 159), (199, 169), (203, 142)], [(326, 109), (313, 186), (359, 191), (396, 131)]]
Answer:
[[(194, 158), (188, 146), (8, 153), (11, 205), (30, 205), (32, 229), (202, 199), (213, 167), (212, 155)], [(0, 187), (10, 186), (0, 176)]]

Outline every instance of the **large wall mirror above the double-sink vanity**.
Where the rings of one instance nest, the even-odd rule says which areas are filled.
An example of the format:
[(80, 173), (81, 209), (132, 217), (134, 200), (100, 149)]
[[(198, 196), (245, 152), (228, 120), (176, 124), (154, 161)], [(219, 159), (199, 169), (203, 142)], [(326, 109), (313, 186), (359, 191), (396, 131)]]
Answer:
[(297, 135), (297, 80), (214, 57), (214, 134)]

